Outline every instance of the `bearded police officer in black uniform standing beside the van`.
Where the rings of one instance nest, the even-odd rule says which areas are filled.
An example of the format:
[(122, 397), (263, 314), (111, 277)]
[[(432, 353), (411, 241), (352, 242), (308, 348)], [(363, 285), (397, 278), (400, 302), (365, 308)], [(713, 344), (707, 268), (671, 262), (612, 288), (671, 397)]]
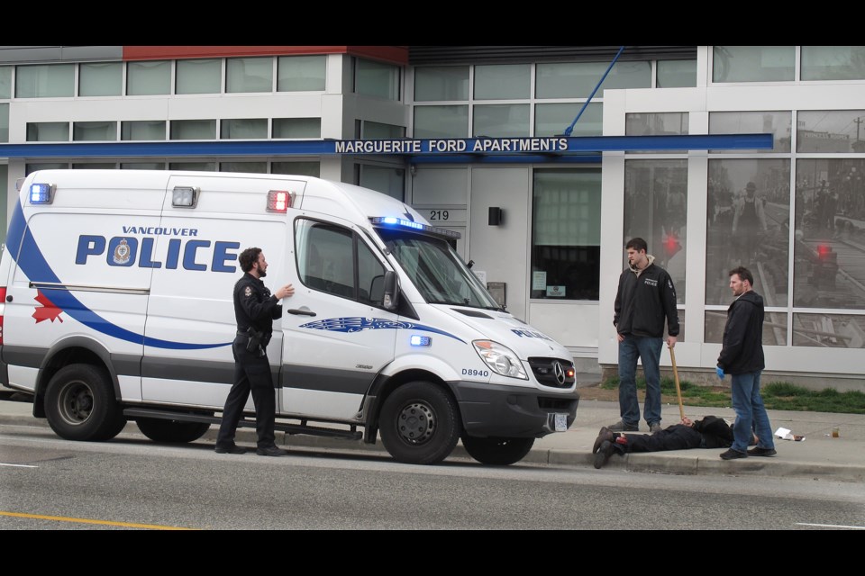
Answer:
[(278, 448), (274, 434), (277, 402), (270, 375), (267, 346), (273, 332), (273, 320), (282, 318), (279, 301), (292, 296), (291, 284), (271, 294), (261, 278), (268, 275), (268, 261), (261, 248), (250, 247), (238, 257), (244, 275), (234, 284), (234, 318), (237, 335), (234, 337), (234, 383), (223, 408), (223, 423), (216, 437), (217, 454), (243, 454), (245, 448), (234, 444), (234, 433), (241, 419), (243, 407), (250, 398), (255, 405), (255, 428), (259, 435), (256, 454), (284, 456), (287, 450)]

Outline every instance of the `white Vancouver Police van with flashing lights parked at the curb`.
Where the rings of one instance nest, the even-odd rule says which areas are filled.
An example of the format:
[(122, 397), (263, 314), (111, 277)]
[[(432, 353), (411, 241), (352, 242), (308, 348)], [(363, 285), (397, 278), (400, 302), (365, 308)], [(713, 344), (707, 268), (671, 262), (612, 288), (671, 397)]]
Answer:
[[(20, 185), (0, 260), (0, 383), (59, 437), (133, 420), (159, 442), (220, 421), (232, 385), (237, 257), (294, 284), (268, 356), (277, 428), (435, 464), (461, 439), (514, 464), (564, 432), (568, 350), (504, 311), (413, 208), (294, 175), (43, 170)], [(241, 427), (255, 428), (250, 400)], [(362, 428), (362, 432), (359, 431)]]

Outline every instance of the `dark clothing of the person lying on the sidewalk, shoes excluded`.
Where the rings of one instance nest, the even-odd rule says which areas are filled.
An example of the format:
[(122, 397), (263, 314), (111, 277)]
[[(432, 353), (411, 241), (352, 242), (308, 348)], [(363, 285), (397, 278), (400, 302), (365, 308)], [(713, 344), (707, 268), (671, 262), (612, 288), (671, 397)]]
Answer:
[(668, 426), (655, 434), (625, 434), (626, 444), (617, 444), (620, 452), (663, 452), (690, 448), (727, 448), (733, 445), (733, 429), (724, 419), (706, 416), (695, 420), (693, 428), (684, 424)]

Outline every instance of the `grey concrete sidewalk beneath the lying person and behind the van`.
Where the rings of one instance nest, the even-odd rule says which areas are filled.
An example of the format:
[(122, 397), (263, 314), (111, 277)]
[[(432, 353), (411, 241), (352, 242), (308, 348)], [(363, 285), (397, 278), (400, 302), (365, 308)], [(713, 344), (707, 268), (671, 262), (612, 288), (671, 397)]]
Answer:
[[(32, 416), (32, 404), (27, 401), (7, 400), (0, 396), (0, 425), (37, 426), (48, 428), (45, 419)], [(713, 414), (732, 421), (732, 408), (684, 407), (690, 419), (699, 419)], [(662, 426), (675, 424), (679, 420), (678, 405), (663, 406)], [(535, 441), (532, 452), (520, 464), (552, 464), (587, 468), (597, 474), (607, 471), (641, 473), (733, 475), (799, 477), (833, 482), (865, 482), (865, 415), (834, 414), (824, 412), (797, 412), (769, 410), (772, 430), (788, 428), (805, 441), (775, 439), (778, 455), (770, 458), (748, 457), (724, 461), (719, 455), (723, 449), (694, 449), (649, 454), (613, 455), (603, 469), (595, 471), (592, 463), (592, 446), (597, 431), (619, 419), (617, 402), (580, 401), (577, 421), (567, 432), (551, 434)], [(648, 433), (645, 422), (640, 424), (641, 433)], [(839, 437), (831, 437), (832, 428), (839, 428)], [(140, 434), (134, 424), (128, 425), (123, 434)], [(198, 443), (214, 443), (216, 427), (205, 434)], [(237, 434), (241, 446), (255, 446), (255, 432), (240, 428)], [(360, 441), (340, 440), (329, 437), (307, 435), (288, 436), (278, 433), (278, 444), (289, 450), (315, 451), (318, 453), (344, 453), (363, 451), (387, 455), (381, 442), (366, 445)], [(252, 455), (255, 457), (255, 455)], [(462, 446), (457, 446), (451, 458), (469, 458)], [(517, 464), (518, 465), (518, 464)]]

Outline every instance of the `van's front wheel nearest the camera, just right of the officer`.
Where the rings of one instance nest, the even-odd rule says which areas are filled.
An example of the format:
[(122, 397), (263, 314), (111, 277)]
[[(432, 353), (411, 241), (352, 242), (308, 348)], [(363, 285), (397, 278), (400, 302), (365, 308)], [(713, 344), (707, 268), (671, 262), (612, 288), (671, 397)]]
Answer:
[(406, 383), (391, 392), (378, 421), (387, 452), (405, 464), (442, 462), (457, 446), (461, 428), (456, 401), (430, 382)]

